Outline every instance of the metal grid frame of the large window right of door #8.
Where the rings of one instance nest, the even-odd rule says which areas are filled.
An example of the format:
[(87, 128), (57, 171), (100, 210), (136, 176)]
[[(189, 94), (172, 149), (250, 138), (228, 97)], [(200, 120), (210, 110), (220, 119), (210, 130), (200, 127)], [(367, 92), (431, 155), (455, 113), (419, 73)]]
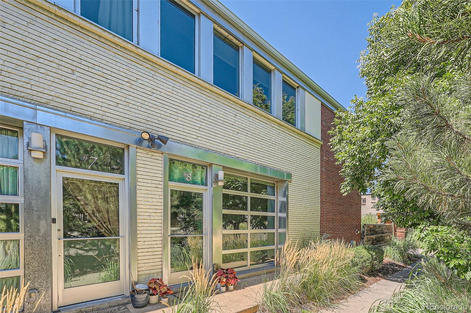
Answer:
[[(243, 270), (247, 268), (254, 268), (254, 267), (259, 267), (259, 266), (266, 266), (267, 264), (271, 264), (272, 262), (265, 262), (262, 264), (257, 264), (257, 265), (250, 265), (250, 252), (251, 251), (260, 251), (260, 250), (275, 250), (275, 255), (278, 247), (278, 191), (277, 191), (277, 181), (275, 180), (267, 180), (264, 178), (259, 178), (256, 176), (251, 176), (251, 175), (246, 175), (242, 173), (237, 173), (237, 172), (225, 172), (225, 175), (234, 175), (234, 176), (239, 176), (243, 178), (247, 178), (247, 190), (248, 191), (236, 191), (236, 190), (230, 190), (230, 189), (224, 189), (224, 186), (222, 188), (222, 193), (223, 194), (230, 194), (230, 195), (238, 195), (238, 196), (247, 196), (247, 211), (242, 211), (242, 210), (226, 210), (222, 209), (222, 214), (235, 214), (235, 215), (247, 215), (247, 229), (232, 229), (232, 230), (225, 230), (222, 229), (222, 234), (247, 234), (247, 248), (243, 249), (232, 249), (232, 250), (222, 250), (221, 254), (230, 254), (230, 253), (237, 253), (237, 252), (246, 252), (247, 253), (247, 265), (246, 266), (241, 266), (237, 267), (238, 270)], [(268, 195), (261, 195), (261, 194), (256, 194), (252, 193), (250, 190), (250, 182), (251, 180), (258, 180), (258, 181), (263, 181), (263, 182), (268, 182), (268, 183), (273, 183), (275, 186), (275, 196), (268, 196)], [(264, 198), (264, 199), (273, 199), (275, 200), (275, 212), (260, 212), (260, 211), (251, 211), (250, 210), (250, 199), (251, 197), (256, 197), (256, 198)], [(251, 229), (250, 226), (250, 217), (251, 215), (255, 216), (273, 216), (275, 217), (275, 228), (274, 229)], [(221, 216), (222, 219), (222, 216)], [(250, 237), (251, 234), (260, 234), (260, 233), (272, 233), (275, 234), (275, 244), (270, 245), (270, 246), (263, 246), (263, 247), (250, 247)], [(224, 263), (222, 263), (224, 264)]]

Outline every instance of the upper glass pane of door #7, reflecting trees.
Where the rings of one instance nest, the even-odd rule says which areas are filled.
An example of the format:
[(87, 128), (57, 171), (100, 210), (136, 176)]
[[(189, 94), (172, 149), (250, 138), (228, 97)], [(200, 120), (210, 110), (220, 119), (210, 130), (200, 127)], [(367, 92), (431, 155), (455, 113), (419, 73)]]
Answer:
[(63, 178), (64, 237), (119, 236), (118, 184)]

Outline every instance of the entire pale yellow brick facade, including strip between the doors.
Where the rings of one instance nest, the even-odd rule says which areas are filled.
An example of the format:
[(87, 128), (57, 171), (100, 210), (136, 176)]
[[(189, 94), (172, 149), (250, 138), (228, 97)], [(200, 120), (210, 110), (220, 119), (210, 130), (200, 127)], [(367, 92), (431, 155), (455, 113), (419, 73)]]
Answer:
[[(320, 149), (313, 137), (70, 12), (33, 2), (0, 1), (0, 94), (291, 172), (290, 237), (318, 233)], [(138, 152), (139, 239), (147, 222), (161, 219), (147, 214), (161, 210), (159, 200), (148, 203), (143, 193), (147, 182), (160, 188), (153, 175), (162, 173), (147, 180), (144, 161), (161, 164), (162, 157)], [(144, 242), (138, 248), (139, 263), (149, 259)], [(158, 263), (140, 264), (139, 274), (161, 271)]]

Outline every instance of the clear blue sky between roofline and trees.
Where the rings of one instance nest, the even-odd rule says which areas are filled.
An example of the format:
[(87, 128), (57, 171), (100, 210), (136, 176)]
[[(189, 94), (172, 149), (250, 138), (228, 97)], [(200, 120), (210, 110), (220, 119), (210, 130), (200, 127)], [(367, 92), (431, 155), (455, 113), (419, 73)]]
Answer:
[(393, 0), (222, 0), (273, 47), (343, 106), (365, 95), (358, 54), (366, 48), (367, 23)]

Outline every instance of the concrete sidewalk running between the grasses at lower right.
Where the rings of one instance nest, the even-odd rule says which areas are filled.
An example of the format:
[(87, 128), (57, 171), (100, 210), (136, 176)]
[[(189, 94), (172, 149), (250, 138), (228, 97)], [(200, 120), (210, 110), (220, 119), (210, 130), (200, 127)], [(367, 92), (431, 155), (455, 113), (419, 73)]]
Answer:
[(416, 263), (407, 266), (396, 274), (360, 290), (339, 303), (326, 308), (319, 313), (366, 313), (371, 305), (380, 299), (390, 298), (395, 292), (404, 288), (403, 283), (409, 279), (409, 274)]

